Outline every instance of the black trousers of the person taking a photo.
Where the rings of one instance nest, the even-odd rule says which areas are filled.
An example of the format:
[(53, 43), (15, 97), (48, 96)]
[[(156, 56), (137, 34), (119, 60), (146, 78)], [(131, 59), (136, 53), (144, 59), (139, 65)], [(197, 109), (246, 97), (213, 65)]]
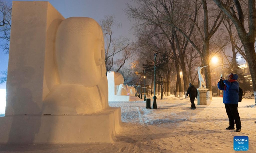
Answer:
[(241, 129), (241, 120), (240, 120), (237, 107), (238, 107), (238, 104), (225, 104), (225, 108), (226, 108), (226, 112), (229, 120), (229, 126), (235, 127), (235, 122), (236, 122), (236, 128)]

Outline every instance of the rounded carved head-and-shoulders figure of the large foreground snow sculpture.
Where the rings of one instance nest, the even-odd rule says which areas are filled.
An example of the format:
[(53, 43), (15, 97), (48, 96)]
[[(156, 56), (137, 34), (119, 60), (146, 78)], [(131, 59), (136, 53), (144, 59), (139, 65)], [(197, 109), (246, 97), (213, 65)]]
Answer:
[(92, 18), (63, 20), (56, 35), (60, 84), (44, 99), (44, 114), (96, 113), (108, 106), (103, 33)]

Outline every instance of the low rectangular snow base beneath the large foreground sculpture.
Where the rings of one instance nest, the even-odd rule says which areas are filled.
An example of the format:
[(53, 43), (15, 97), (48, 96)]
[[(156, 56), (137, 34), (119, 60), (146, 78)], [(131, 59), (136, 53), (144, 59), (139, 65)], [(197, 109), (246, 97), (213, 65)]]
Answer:
[(0, 143), (113, 142), (120, 107), (92, 115), (14, 115), (0, 117)]

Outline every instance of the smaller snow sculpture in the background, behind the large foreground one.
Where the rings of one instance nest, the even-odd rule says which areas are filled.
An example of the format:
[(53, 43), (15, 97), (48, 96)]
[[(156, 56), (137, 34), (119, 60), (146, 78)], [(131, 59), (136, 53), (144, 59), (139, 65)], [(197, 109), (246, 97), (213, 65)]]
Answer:
[(128, 89), (124, 86), (124, 77), (118, 73), (108, 72), (108, 101), (130, 101)]

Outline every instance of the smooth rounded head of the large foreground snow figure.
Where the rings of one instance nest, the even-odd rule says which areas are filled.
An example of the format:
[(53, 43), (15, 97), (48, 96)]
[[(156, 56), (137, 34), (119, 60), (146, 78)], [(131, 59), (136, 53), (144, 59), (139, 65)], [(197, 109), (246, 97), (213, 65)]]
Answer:
[(62, 21), (56, 35), (56, 62), (61, 84), (93, 87), (105, 75), (105, 51), (100, 25), (92, 18)]

